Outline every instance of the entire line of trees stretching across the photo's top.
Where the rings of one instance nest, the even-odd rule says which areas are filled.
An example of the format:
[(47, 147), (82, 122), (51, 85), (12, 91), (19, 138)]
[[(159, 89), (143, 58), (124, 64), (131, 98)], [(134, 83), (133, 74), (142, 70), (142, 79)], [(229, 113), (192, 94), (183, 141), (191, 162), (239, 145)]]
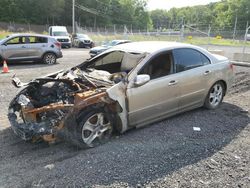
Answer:
[[(250, 20), (249, 0), (222, 0), (208, 5), (148, 11), (147, 0), (75, 0), (76, 21), (87, 27), (112, 25), (134, 29), (180, 29), (188, 24), (198, 29), (208, 26), (244, 30)], [(0, 21), (71, 25), (72, 0), (1, 0)]]

